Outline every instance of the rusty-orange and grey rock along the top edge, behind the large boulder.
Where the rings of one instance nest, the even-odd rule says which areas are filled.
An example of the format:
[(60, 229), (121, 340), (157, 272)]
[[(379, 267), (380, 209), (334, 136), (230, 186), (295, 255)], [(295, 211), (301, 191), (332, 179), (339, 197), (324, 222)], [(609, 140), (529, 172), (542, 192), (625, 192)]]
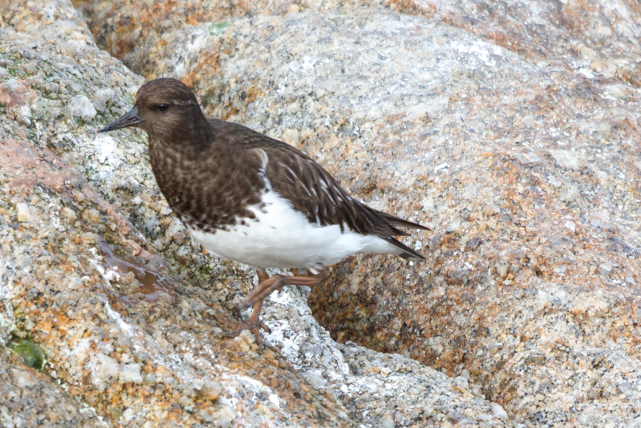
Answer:
[(100, 46), (133, 70), (154, 78), (167, 66), (176, 47), (169, 42), (175, 36), (172, 33), (182, 28), (211, 22), (210, 31), (216, 32), (226, 26), (226, 20), (241, 16), (284, 16), (299, 11), (350, 14), (355, 8), (371, 6), (463, 28), (541, 66), (641, 85), (641, 8), (630, 0), (118, 0), (86, 2), (83, 11)]

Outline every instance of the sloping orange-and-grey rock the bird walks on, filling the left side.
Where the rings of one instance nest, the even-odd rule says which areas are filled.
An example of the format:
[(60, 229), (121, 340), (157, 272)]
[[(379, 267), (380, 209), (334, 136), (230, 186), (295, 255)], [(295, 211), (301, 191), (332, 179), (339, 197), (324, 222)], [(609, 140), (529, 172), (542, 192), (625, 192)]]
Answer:
[(254, 272), (189, 240), (144, 135), (95, 135), (143, 79), (68, 1), (1, 6), (3, 426), (511, 425), (467, 377), (335, 343), (306, 291), (273, 296), (266, 345), (224, 337)]

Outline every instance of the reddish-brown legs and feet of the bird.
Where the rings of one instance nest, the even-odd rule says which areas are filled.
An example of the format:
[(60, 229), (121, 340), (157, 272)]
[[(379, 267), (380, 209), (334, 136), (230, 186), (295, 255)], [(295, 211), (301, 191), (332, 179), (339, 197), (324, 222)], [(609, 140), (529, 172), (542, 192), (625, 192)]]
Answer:
[(254, 310), (251, 312), (249, 319), (246, 322), (238, 322), (228, 320), (222, 316), (216, 317), (220, 323), (231, 328), (231, 330), (225, 333), (226, 336), (235, 337), (239, 335), (242, 330), (249, 330), (251, 333), (254, 333), (256, 343), (262, 343), (263, 341), (260, 334), (261, 328), (269, 332), (269, 327), (260, 321), (261, 309), (267, 296), (273, 293), (273, 291), (281, 291), (283, 286), (318, 286), (329, 278), (329, 270), (326, 268), (315, 276), (298, 275), (298, 271), (296, 271), (296, 275), (294, 276), (274, 275), (270, 277), (264, 269), (258, 269), (256, 272), (259, 276), (259, 284), (251, 290), (245, 300), (238, 306), (239, 310), (254, 306)]

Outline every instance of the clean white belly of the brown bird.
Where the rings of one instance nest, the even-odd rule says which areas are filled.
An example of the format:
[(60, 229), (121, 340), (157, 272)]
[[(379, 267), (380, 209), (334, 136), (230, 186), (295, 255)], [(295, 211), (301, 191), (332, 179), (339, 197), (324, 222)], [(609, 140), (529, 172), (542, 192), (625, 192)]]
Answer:
[(355, 253), (400, 254), (386, 241), (340, 226), (310, 224), (291, 202), (273, 190), (263, 196), (265, 207), (250, 207), (255, 220), (215, 233), (189, 228), (204, 247), (224, 259), (256, 268), (316, 268), (337, 263)]

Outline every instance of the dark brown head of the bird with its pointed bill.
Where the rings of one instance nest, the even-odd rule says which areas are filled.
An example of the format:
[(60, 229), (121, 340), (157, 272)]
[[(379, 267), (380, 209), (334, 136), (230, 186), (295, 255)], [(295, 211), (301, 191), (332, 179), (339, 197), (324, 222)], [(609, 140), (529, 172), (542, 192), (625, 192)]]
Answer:
[(131, 126), (145, 130), (150, 138), (179, 141), (193, 136), (194, 128), (207, 127), (207, 120), (189, 86), (160, 78), (142, 85), (134, 107), (98, 132)]

